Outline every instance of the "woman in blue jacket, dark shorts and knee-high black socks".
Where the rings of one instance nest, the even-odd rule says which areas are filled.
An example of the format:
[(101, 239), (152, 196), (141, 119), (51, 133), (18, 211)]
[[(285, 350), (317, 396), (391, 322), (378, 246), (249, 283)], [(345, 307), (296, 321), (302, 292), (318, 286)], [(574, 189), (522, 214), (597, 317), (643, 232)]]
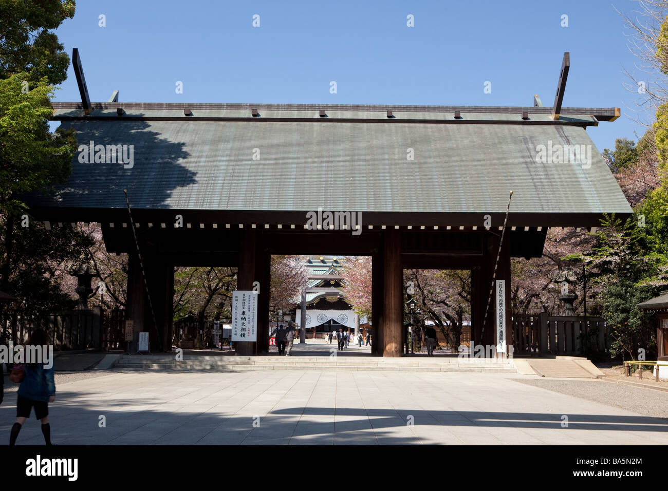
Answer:
[[(37, 329), (30, 335), (29, 345), (46, 346), (46, 333)], [(25, 353), (25, 351), (24, 351)], [(34, 361), (34, 360), (31, 360)], [(53, 363), (51, 361), (51, 363)], [(55, 381), (53, 365), (47, 368), (44, 363), (25, 363), (25, 377), (21, 381), (16, 401), (16, 422), (11, 428), (9, 444), (16, 442), (17, 436), (30, 411), (35, 407), (35, 416), (42, 424), (42, 434), (47, 445), (51, 445), (51, 427), (49, 426), (49, 402), (55, 401)]]

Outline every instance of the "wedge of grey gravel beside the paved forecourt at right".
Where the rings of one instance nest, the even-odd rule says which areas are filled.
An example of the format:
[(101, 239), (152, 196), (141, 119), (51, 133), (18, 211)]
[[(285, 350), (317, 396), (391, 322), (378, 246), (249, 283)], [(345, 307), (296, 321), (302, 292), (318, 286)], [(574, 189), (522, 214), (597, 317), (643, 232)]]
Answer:
[(515, 381), (619, 407), (643, 416), (668, 419), (668, 392), (603, 380), (515, 379)]

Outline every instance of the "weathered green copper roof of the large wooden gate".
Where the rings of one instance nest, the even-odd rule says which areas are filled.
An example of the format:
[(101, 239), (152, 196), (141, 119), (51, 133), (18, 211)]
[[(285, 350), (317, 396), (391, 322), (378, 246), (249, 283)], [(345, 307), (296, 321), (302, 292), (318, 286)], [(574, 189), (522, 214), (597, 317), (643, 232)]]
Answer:
[[(314, 116), (314, 110), (302, 111), (308, 121), (280, 120), (297, 114), (281, 110), (236, 121), (160, 120), (174, 109), (128, 106), (127, 114), (158, 119), (101, 116), (110, 111), (100, 110), (91, 115), (100, 119), (93, 120), (65, 108), (56, 116), (79, 118), (62, 125), (76, 130), (79, 144), (132, 145), (134, 165), (81, 163), (77, 153), (57, 196), (33, 196), (29, 203), (124, 208), (122, 190), (128, 189), (134, 208), (486, 214), (505, 212), (514, 190), (512, 213), (631, 212), (585, 129), (565, 124), (591, 122), (591, 116), (564, 114), (557, 124), (537, 109), (525, 123), (518, 114), (484, 110), (462, 114), (462, 122), (435, 112), (404, 110), (395, 114), (398, 120), (381, 121), (377, 112), (328, 111), (337, 118), (333, 122)], [(270, 113), (278, 120), (263, 121)], [(584, 146), (591, 167), (537, 163), (540, 145)]]

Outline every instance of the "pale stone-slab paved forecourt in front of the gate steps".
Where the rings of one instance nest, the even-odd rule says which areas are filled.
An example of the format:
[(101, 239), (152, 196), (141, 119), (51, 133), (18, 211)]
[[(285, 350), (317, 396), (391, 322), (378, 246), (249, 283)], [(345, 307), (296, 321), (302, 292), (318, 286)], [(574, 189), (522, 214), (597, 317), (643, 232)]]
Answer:
[[(57, 444), (668, 444), (668, 420), (516, 373), (117, 371), (57, 387)], [(562, 379), (564, 380), (564, 379)], [(603, 381), (592, 381), (602, 383)], [(613, 385), (613, 384), (606, 384)], [(15, 394), (0, 405), (9, 440)], [(568, 428), (562, 428), (562, 416)], [(104, 416), (104, 418), (101, 418)], [(104, 420), (105, 428), (100, 428)], [(34, 416), (18, 444), (43, 444)]]

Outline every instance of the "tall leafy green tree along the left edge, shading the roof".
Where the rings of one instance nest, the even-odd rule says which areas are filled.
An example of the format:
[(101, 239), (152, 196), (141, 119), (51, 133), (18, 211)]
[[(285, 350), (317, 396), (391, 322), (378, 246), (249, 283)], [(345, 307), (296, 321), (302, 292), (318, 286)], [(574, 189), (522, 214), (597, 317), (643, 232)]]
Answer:
[(45, 230), (23, 199), (48, 192), (71, 172), (75, 137), (51, 133), (48, 122), (53, 85), (65, 80), (69, 64), (52, 29), (74, 9), (71, 0), (0, 0), (0, 289), (19, 298), (0, 307), (5, 321), (69, 307), (56, 269), (91, 245), (77, 227)]

